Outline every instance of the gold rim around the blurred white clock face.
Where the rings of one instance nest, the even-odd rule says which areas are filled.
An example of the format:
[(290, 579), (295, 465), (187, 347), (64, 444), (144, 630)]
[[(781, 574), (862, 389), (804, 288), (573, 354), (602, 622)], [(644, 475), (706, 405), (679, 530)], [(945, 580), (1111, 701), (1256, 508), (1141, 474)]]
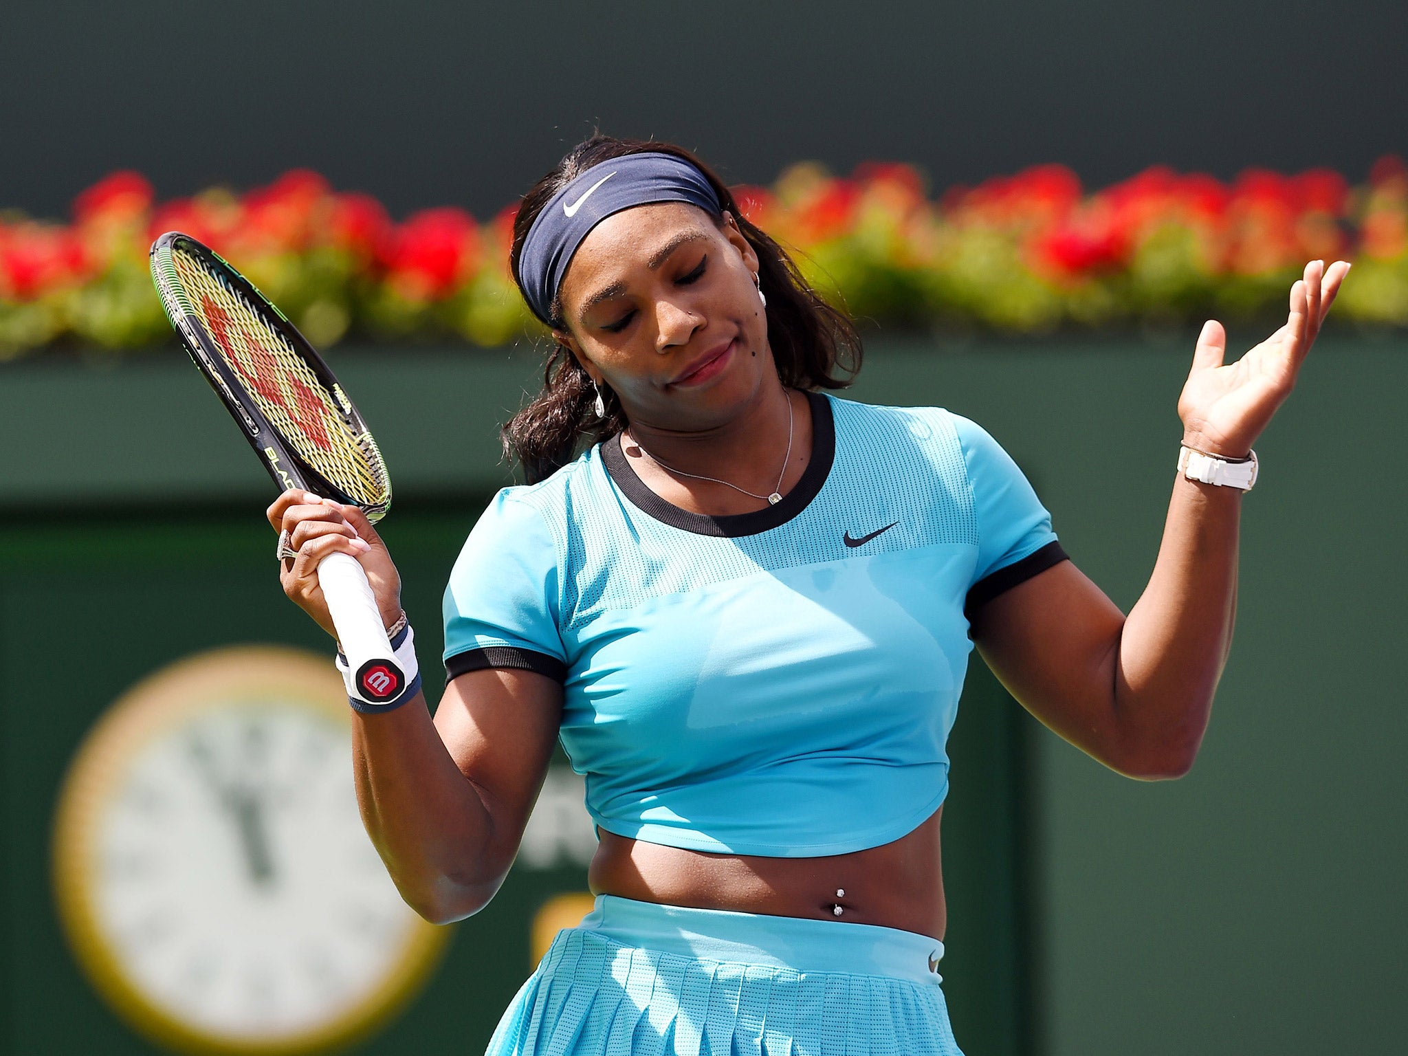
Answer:
[[(69, 762), (54, 815), (52, 881), (59, 922), (80, 967), (108, 1005), (141, 1033), (201, 1056), (301, 1056), (366, 1038), (420, 993), (439, 964), (451, 929), (417, 919), (383, 981), (352, 1010), (280, 1038), (211, 1033), (153, 1004), (127, 977), (99, 924), (90, 897), (93, 836), (103, 790), (120, 776), (131, 749), (207, 708), (211, 683), (238, 684), (251, 696), (276, 690), (297, 704), (351, 727), (346, 696), (325, 656), (280, 645), (208, 649), (170, 663), (113, 701)], [(220, 701), (231, 694), (221, 691)]]

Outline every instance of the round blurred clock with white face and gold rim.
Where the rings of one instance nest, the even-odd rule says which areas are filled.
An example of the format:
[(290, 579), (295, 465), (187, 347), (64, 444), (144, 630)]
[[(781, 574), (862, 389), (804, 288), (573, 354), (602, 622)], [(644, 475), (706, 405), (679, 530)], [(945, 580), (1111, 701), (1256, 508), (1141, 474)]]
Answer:
[(59, 797), (59, 917), (97, 991), (196, 1053), (359, 1038), (438, 962), (362, 828), (324, 656), (218, 649), (152, 674), (89, 734)]

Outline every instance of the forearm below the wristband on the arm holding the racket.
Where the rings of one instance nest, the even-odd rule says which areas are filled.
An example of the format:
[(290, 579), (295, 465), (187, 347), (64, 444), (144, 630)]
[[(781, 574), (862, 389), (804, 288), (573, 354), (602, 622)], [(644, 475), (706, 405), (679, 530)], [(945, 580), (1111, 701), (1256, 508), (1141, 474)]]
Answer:
[(367, 835), (406, 901), (436, 922), (482, 908), (494, 867), (493, 819), (431, 721), (425, 697), (383, 715), (353, 714), (352, 765)]

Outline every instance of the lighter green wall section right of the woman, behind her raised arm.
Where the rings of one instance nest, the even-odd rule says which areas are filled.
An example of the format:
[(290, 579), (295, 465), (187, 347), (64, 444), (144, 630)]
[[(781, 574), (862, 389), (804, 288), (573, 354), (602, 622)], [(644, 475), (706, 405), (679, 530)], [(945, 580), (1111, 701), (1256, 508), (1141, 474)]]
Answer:
[[(859, 394), (987, 425), (1128, 610), (1157, 552), (1190, 356), (1191, 341), (877, 352)], [(1401, 1050), (1405, 390), (1401, 342), (1332, 335), (1257, 444), (1236, 639), (1191, 774), (1129, 781), (1038, 735), (1028, 862), (1050, 1056)]]

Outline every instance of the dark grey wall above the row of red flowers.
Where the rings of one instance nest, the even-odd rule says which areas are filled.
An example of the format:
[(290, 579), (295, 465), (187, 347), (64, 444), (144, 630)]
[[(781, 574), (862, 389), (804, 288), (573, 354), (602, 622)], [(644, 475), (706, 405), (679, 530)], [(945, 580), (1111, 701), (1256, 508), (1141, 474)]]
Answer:
[(739, 182), (801, 158), (939, 186), (1045, 161), (1360, 179), (1408, 145), (1405, 48), (1402, 0), (10, 0), (0, 207), (59, 215), (117, 166), (184, 194), (310, 165), (486, 215), (593, 122)]

